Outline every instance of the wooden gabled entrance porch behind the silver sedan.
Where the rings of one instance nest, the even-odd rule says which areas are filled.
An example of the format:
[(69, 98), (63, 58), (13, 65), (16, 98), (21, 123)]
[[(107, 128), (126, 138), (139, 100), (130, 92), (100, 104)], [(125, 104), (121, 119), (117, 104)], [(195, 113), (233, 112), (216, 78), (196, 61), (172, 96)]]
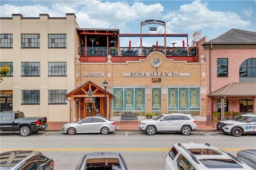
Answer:
[[(83, 83), (81, 86), (75, 88), (66, 95), (66, 98), (70, 101), (70, 122), (73, 122), (74, 118), (79, 120), (90, 115), (104, 116), (105, 108), (106, 116), (110, 117), (110, 100), (113, 97), (113, 94), (106, 91), (105, 107), (105, 89), (92, 81)], [(98, 107), (95, 105), (95, 102), (97, 103), (95, 100), (98, 101)], [(75, 103), (77, 104), (76, 106), (74, 106)], [(74, 109), (75, 107), (76, 109)], [(76, 114), (74, 114), (74, 112), (76, 112)]]

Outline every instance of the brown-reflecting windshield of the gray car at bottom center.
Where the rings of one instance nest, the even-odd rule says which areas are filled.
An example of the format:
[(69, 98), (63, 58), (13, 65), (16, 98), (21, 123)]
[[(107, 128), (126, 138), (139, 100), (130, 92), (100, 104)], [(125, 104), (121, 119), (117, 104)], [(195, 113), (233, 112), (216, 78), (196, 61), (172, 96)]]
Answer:
[(118, 158), (91, 158), (86, 160), (84, 170), (122, 170)]

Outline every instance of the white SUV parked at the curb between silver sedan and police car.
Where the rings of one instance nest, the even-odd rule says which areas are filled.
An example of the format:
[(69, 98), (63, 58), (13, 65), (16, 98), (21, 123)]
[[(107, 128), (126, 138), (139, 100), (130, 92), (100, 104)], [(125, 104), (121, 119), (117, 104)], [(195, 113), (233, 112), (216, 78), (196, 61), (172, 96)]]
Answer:
[(196, 120), (190, 114), (162, 114), (155, 118), (141, 121), (139, 128), (148, 135), (166, 131), (189, 135), (191, 131), (196, 130)]

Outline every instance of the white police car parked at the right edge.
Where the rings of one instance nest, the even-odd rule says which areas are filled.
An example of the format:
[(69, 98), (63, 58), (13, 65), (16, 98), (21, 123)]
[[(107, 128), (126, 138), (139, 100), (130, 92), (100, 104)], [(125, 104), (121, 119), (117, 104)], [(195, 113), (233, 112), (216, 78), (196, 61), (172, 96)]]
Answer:
[(231, 121), (220, 121), (217, 130), (239, 137), (243, 133), (256, 133), (256, 114), (240, 115)]

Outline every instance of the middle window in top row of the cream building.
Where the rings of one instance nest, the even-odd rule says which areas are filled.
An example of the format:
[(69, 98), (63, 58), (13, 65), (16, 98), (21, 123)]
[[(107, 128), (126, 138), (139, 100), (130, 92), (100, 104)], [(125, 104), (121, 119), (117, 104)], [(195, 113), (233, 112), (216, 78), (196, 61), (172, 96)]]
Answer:
[(21, 48), (40, 48), (40, 35), (21, 34)]

